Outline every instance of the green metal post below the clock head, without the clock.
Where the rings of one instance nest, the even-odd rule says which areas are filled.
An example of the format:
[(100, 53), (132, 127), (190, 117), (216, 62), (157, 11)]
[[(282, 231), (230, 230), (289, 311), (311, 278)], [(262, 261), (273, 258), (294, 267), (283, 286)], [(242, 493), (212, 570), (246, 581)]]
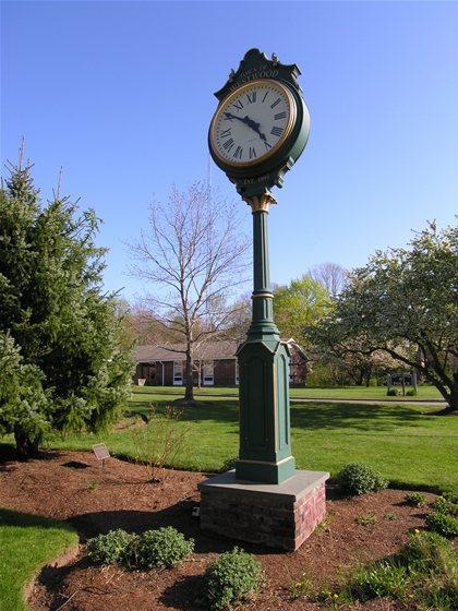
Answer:
[(289, 417), (289, 351), (273, 316), (267, 216), (270, 192), (245, 202), (253, 214), (253, 319), (238, 351), (240, 454), (236, 478), (281, 483), (294, 475)]

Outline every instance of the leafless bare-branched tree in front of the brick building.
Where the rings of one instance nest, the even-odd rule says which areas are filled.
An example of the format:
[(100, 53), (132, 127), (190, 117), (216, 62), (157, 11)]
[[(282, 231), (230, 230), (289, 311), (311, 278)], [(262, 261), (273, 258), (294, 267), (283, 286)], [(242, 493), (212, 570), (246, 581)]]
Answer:
[(227, 328), (228, 300), (246, 281), (250, 242), (239, 228), (236, 204), (193, 183), (186, 192), (173, 187), (168, 205), (153, 202), (148, 228), (129, 244), (132, 273), (155, 287), (145, 302), (161, 327), (156, 343), (184, 357), (186, 402), (194, 399), (195, 349)]

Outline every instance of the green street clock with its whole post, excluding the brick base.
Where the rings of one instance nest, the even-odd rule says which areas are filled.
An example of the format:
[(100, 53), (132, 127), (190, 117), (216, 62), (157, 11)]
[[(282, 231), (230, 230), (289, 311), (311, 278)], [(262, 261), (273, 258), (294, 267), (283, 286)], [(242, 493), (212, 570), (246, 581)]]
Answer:
[(253, 213), (253, 319), (238, 350), (240, 454), (237, 480), (278, 484), (296, 474), (289, 416), (289, 351), (273, 316), (267, 215), (273, 187), (305, 148), (310, 113), (296, 64), (248, 51), (237, 72), (215, 95), (208, 131), (216, 165), (236, 184)]

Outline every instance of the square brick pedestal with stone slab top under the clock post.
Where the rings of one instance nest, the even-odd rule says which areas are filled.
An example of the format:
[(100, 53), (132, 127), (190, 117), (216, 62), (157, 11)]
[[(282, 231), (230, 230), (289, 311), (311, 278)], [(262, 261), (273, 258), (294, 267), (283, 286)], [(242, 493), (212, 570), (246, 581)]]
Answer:
[(326, 515), (324, 471), (296, 471), (279, 484), (228, 471), (197, 484), (201, 528), (231, 539), (297, 550)]

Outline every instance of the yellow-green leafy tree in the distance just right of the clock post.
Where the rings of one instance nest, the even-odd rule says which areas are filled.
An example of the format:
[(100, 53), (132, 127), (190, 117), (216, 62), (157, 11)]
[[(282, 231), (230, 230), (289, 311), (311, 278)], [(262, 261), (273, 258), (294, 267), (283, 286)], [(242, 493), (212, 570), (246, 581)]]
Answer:
[(282, 336), (306, 346), (304, 327), (315, 324), (330, 307), (329, 293), (309, 275), (274, 289), (274, 319)]

